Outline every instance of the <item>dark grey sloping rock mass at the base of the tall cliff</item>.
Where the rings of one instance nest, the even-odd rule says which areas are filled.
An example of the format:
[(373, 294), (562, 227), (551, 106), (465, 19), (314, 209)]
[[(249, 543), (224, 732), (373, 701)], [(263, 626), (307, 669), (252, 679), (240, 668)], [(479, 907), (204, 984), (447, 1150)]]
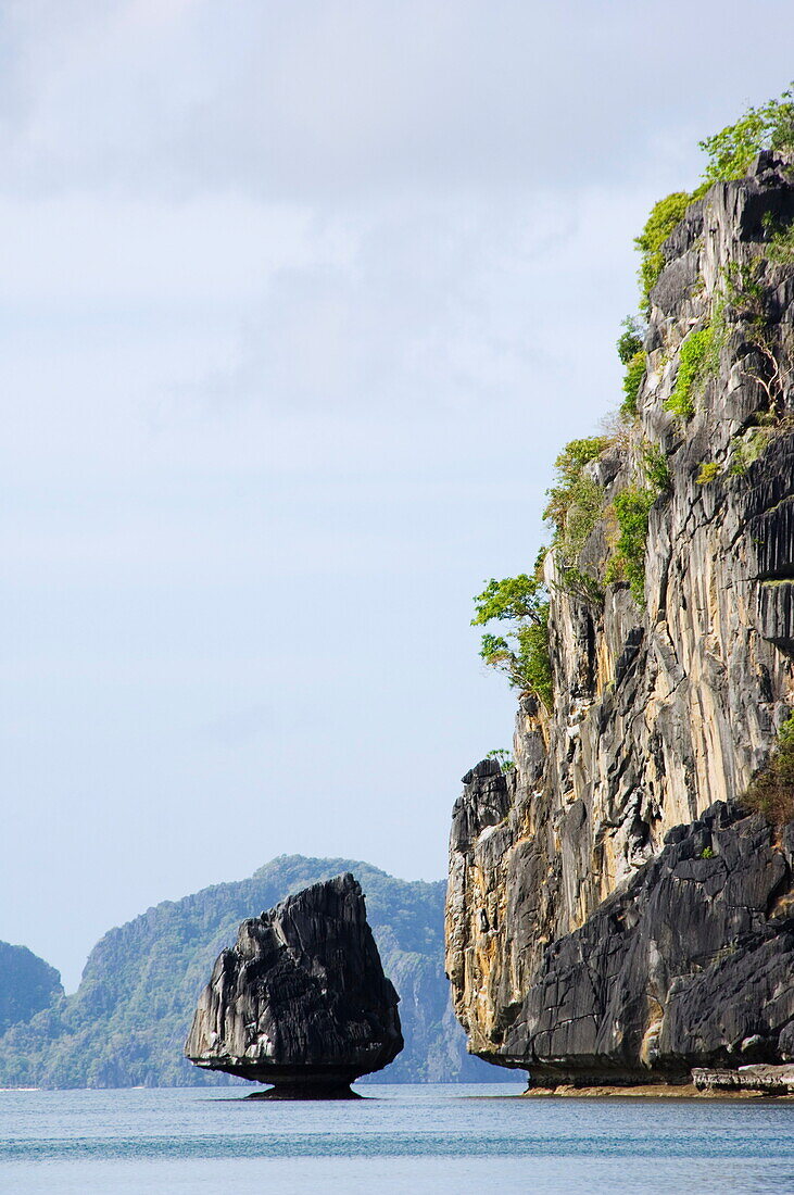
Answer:
[(550, 945), (504, 1029), (543, 1086), (794, 1059), (792, 845), (718, 803)]

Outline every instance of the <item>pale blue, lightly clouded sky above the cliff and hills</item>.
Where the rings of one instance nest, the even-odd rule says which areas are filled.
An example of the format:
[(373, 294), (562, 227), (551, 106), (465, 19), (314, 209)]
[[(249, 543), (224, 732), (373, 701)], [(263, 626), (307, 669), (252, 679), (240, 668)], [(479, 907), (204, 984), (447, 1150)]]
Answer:
[(472, 599), (792, 44), (789, 0), (2, 0), (0, 938), (72, 989), (282, 853), (445, 874), (515, 710)]

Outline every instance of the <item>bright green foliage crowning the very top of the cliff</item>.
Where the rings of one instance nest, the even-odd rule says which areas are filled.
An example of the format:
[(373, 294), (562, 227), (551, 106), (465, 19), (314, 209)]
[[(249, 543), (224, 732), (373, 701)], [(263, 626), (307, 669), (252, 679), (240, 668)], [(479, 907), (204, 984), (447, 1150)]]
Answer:
[(701, 191), (712, 183), (727, 183), (741, 178), (761, 149), (793, 149), (792, 91), (784, 91), (780, 99), (770, 99), (759, 108), (747, 108), (735, 124), (726, 125), (698, 145), (708, 155)]

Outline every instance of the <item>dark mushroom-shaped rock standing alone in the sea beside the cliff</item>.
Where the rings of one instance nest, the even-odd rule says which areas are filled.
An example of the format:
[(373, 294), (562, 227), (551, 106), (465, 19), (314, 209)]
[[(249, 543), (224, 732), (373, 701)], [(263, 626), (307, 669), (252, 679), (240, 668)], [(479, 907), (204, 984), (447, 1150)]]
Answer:
[(242, 923), (199, 997), (185, 1054), (273, 1084), (264, 1095), (350, 1097), (353, 1079), (402, 1049), (399, 999), (347, 872)]

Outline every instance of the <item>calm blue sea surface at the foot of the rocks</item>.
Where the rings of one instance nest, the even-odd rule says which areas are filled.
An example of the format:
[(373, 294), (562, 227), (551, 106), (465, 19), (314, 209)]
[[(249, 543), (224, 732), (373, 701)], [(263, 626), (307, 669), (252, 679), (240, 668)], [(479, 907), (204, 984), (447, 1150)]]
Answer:
[(504, 1084), (303, 1104), (240, 1090), (2, 1091), (0, 1190), (794, 1193), (792, 1105), (531, 1101)]

